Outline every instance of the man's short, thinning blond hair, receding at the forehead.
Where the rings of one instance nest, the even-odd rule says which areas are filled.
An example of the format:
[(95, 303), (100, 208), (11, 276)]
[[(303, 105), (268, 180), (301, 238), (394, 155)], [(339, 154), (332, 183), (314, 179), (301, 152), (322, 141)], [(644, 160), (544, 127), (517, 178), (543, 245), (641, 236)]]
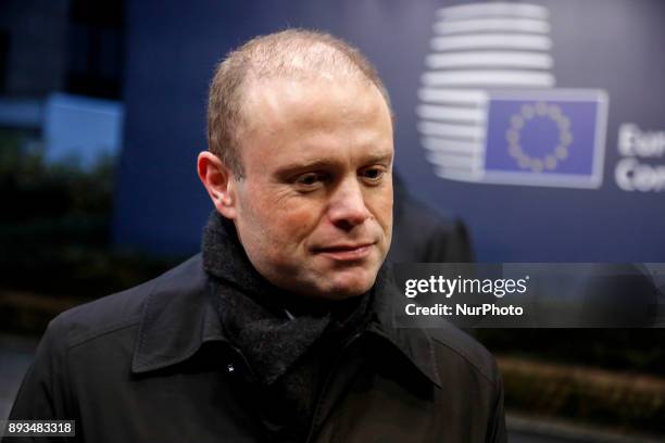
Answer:
[(375, 67), (356, 48), (329, 34), (287, 29), (249, 40), (217, 65), (208, 104), (209, 150), (237, 178), (242, 178), (239, 132), (247, 118), (242, 112), (246, 88), (267, 78), (309, 79), (322, 75), (368, 81), (391, 109)]

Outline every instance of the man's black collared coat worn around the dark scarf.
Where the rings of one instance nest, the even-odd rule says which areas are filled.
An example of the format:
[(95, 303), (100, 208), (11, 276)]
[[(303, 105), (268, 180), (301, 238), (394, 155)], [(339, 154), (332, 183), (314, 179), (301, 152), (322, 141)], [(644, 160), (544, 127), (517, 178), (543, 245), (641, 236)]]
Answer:
[[(57, 317), (10, 419), (73, 419), (73, 440), (95, 443), (278, 441), (261, 419), (268, 400), (222, 332), (208, 279), (198, 255)], [(491, 355), (452, 327), (391, 328), (391, 295), (382, 295), (337, 359), (309, 441), (505, 441)]]

